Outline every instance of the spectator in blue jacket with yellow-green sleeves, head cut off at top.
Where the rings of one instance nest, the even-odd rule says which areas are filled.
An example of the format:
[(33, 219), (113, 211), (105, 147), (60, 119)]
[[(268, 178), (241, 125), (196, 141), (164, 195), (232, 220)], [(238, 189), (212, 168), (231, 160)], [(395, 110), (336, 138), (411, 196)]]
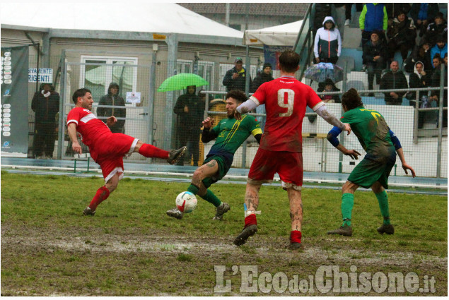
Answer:
[(388, 27), (388, 16), (385, 5), (380, 3), (367, 3), (363, 6), (358, 24), (362, 30), (362, 48), (370, 40), (371, 32), (377, 30), (380, 40), (385, 40), (385, 31)]

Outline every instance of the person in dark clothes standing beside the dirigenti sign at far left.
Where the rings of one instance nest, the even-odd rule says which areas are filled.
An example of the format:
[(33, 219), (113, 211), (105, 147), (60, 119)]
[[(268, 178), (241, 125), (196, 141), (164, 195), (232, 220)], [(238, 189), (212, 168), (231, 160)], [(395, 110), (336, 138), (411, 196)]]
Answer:
[[(56, 114), (59, 112), (59, 94), (51, 83), (42, 83), (31, 102), (35, 112), (34, 154), (36, 158), (52, 159), (56, 138)], [(45, 152), (42, 154), (42, 152)]]

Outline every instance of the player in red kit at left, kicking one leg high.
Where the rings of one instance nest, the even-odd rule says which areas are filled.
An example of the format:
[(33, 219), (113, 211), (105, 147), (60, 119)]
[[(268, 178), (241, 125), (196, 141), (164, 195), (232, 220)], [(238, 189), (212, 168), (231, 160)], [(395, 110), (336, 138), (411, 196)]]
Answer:
[(107, 118), (106, 124), (100, 121), (92, 112), (92, 94), (86, 88), (74, 92), (72, 100), (75, 102), (67, 116), (67, 131), (71, 139), (71, 148), (81, 154), (81, 145), (76, 138), (76, 131), (81, 134), (83, 143), (89, 147), (91, 157), (100, 164), (105, 185), (98, 188), (91, 204), (83, 210), (83, 215), (95, 215), (97, 206), (115, 191), (119, 180), (123, 178), (123, 157), (139, 152), (144, 157), (157, 157), (174, 164), (184, 155), (186, 147), (170, 152), (161, 150), (150, 144), (144, 144), (138, 138), (132, 138), (123, 133), (112, 133), (109, 126), (117, 122), (115, 116)]

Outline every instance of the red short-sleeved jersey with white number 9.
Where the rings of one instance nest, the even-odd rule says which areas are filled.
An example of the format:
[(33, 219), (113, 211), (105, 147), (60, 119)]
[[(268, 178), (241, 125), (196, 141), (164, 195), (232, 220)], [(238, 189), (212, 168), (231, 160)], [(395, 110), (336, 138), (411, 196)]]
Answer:
[(260, 148), (302, 152), (305, 107), (322, 103), (315, 91), (292, 76), (282, 76), (260, 85), (250, 99), (265, 104), (267, 111)]

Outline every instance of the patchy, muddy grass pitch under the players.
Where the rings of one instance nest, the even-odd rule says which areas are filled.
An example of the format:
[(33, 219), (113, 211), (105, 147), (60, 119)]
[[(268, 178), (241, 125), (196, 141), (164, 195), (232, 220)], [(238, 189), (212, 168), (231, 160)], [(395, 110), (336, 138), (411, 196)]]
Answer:
[[(141, 179), (121, 181), (94, 217), (82, 216), (102, 185), (95, 177), (1, 172), (3, 296), (264, 295), (240, 291), (235, 266), (242, 265), (256, 265), (259, 275), (284, 272), (301, 279), (321, 265), (339, 265), (340, 272), (351, 272), (352, 265), (358, 273), (416, 272), (435, 277), (435, 295), (448, 294), (446, 197), (389, 193), (395, 225), (389, 236), (375, 231), (382, 217), (373, 193), (357, 192), (353, 236), (327, 236), (341, 222), (341, 194), (304, 188), (304, 249), (288, 251), (288, 198), (281, 188), (262, 187), (259, 231), (237, 248), (232, 241), (243, 227), (245, 186), (212, 186), (232, 207), (222, 222), (211, 220), (216, 210), (201, 198), (182, 220), (168, 217), (165, 211), (187, 185)], [(226, 266), (231, 292), (214, 294), (214, 265)]]

